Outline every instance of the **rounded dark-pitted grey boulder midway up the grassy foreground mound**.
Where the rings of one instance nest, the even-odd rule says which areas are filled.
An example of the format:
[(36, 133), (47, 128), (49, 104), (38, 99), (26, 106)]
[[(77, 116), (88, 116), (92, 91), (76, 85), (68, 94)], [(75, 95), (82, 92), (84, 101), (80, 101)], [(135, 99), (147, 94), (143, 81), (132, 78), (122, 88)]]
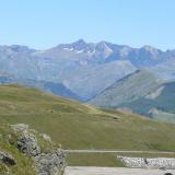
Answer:
[(37, 145), (36, 138), (33, 133), (23, 132), (18, 140), (18, 148), (26, 156), (40, 154), (40, 148)]

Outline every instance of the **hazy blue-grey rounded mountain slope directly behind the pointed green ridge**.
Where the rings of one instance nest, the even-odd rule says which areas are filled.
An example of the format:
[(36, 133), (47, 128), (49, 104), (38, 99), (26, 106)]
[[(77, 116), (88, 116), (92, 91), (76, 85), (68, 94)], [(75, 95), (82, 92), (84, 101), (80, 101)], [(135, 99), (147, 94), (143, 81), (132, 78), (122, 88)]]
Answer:
[(88, 101), (104, 91), (115, 81), (133, 71), (136, 71), (136, 68), (129, 61), (118, 60), (93, 67), (84, 66), (73, 69), (71, 73), (70, 71), (63, 72), (60, 79), (72, 92), (79, 94), (82, 100)]

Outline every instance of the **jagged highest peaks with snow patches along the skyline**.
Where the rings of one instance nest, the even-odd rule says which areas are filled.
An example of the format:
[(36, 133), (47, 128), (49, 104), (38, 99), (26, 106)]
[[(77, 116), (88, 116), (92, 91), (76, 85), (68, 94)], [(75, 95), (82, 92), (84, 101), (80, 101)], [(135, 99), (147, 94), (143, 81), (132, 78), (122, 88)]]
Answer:
[[(168, 59), (174, 59), (175, 50), (162, 51), (161, 49), (145, 45), (141, 48), (132, 48), (127, 45), (116, 45), (108, 42), (86, 43), (79, 39), (72, 44), (60, 44), (57, 47), (42, 51), (48, 57), (58, 57), (62, 50), (69, 54), (79, 54), (86, 63), (104, 63), (114, 60), (129, 60), (133, 66), (154, 66)], [(77, 57), (78, 58), (78, 57)]]

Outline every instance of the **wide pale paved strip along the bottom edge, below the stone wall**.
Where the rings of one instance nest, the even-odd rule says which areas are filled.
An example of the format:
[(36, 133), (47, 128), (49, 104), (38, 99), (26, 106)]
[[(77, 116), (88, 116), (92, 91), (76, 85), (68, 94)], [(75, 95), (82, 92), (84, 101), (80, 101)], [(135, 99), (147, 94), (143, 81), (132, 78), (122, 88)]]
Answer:
[(93, 166), (68, 166), (65, 175), (164, 175), (165, 173), (172, 173), (175, 175), (175, 171)]

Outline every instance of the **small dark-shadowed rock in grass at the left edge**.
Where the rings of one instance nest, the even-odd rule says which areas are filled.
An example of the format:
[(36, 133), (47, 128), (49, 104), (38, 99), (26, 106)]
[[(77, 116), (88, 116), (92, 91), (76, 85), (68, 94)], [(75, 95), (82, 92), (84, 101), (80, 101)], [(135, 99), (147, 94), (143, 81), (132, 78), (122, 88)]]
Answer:
[(4, 153), (4, 152), (1, 152), (1, 151), (0, 151), (0, 160), (8, 166), (12, 166), (12, 165), (16, 164), (16, 162), (12, 158), (12, 155)]

